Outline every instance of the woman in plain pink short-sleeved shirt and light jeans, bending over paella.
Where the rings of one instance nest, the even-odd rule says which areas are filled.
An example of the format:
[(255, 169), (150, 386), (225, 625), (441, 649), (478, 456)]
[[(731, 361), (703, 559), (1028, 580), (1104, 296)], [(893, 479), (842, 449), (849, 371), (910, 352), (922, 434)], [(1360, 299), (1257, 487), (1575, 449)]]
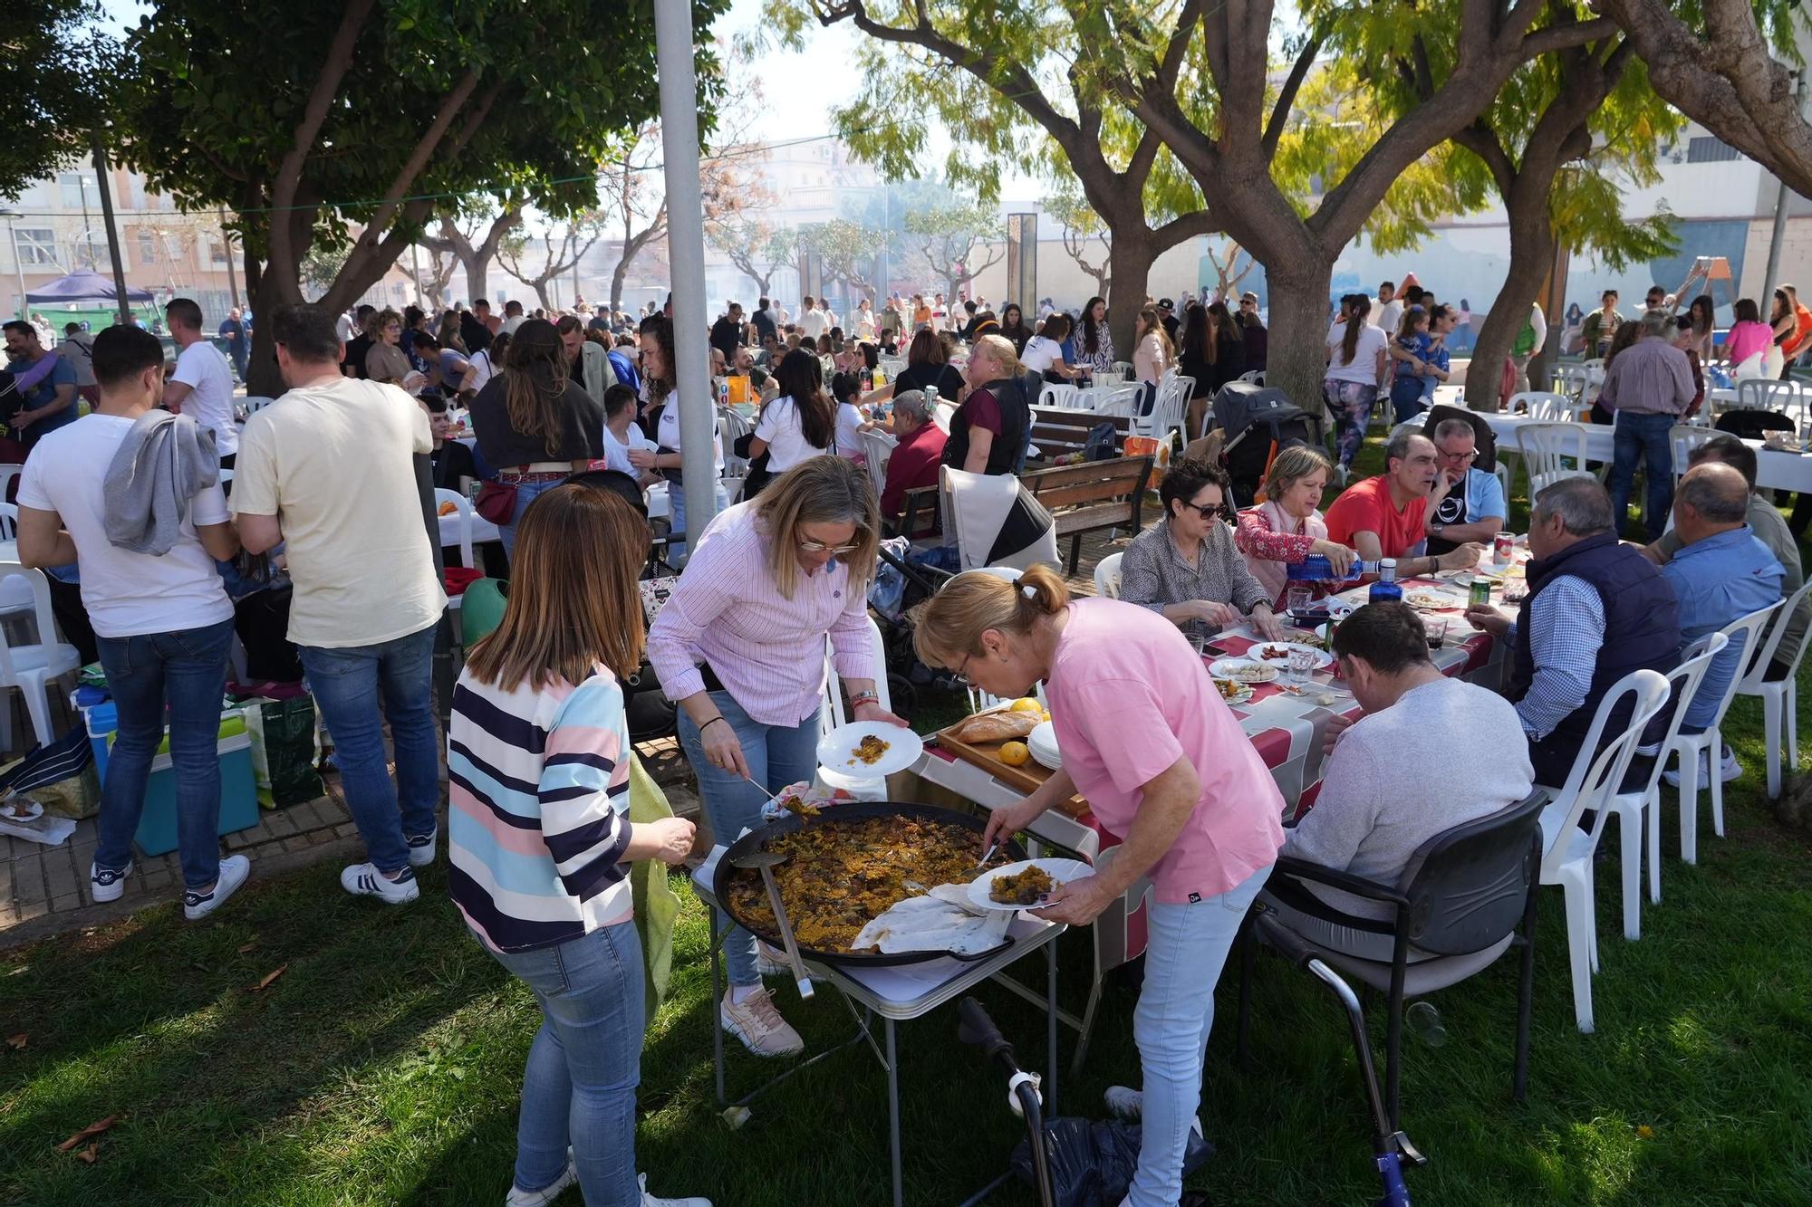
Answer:
[(984, 845), (1082, 792), (1122, 839), (1093, 877), (1040, 917), (1093, 922), (1140, 877), (1156, 904), (1132, 1019), (1145, 1071), (1143, 1144), (1127, 1203), (1172, 1207), (1201, 1104), (1214, 984), (1283, 846), (1283, 796), (1201, 658), (1163, 616), (1118, 600), (1069, 600), (1055, 571), (1018, 582), (957, 575), (915, 611), (919, 658), (993, 696), (1044, 681), (1064, 768), (997, 808)]

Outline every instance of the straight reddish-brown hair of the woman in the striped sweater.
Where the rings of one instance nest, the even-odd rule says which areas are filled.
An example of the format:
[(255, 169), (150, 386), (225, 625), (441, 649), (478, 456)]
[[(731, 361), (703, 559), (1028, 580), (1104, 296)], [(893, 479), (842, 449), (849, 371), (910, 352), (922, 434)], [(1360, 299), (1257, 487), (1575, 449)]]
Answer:
[(620, 495), (580, 484), (544, 491), (516, 524), (504, 620), (471, 647), (466, 669), (506, 692), (582, 683), (598, 663), (632, 676), (647, 556), (649, 524)]

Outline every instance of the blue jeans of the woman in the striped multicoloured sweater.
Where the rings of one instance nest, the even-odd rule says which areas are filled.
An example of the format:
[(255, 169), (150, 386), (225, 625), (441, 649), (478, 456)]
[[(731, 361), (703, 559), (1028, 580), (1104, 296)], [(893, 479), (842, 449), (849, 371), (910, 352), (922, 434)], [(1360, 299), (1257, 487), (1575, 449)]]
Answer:
[(542, 1191), (573, 1147), (587, 1207), (640, 1207), (636, 1086), (641, 1084), (641, 939), (634, 922), (600, 926), (535, 951), (491, 951), (542, 1008), (522, 1071), (516, 1185)]

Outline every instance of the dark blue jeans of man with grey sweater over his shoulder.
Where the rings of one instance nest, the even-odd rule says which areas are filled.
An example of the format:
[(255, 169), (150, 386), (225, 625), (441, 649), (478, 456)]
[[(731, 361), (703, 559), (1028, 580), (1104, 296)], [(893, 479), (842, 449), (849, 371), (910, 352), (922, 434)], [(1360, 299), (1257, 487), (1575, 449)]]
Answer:
[(163, 741), (170, 705), (170, 767), (176, 774), (176, 846), (183, 886), (207, 888), (221, 872), (221, 692), (232, 620), (205, 629), (94, 638), (120, 730), (107, 754), (94, 866), (123, 872), (145, 812), (150, 761)]

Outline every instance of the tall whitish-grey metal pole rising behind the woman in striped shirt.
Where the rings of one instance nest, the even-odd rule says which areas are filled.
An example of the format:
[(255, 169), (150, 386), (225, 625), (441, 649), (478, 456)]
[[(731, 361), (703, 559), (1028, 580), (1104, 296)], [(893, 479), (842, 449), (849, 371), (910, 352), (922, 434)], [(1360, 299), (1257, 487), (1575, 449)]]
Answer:
[(705, 203), (698, 181), (698, 80), (692, 72), (690, 0), (654, 0), (656, 72), (661, 87), (661, 159), (667, 165), (667, 261), (674, 295), (674, 381), (680, 468), (685, 473), (687, 547), (718, 515), (718, 401), (710, 397), (705, 343)]

